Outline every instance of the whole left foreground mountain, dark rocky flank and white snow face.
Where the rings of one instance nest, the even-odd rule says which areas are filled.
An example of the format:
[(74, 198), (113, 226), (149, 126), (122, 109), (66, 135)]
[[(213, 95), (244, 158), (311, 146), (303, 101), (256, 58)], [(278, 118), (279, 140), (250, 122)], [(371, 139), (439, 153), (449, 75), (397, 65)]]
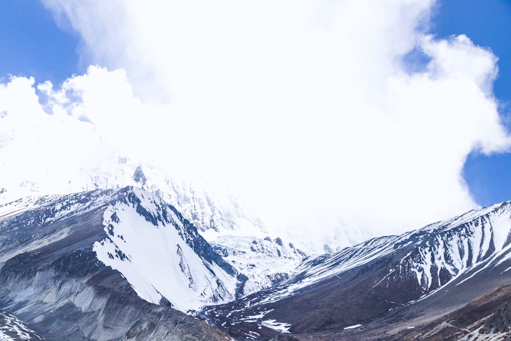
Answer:
[[(0, 262), (0, 308), (56, 340), (225, 340), (174, 308), (227, 302), (246, 282), (175, 208), (133, 188), (0, 206)], [(180, 297), (158, 286), (169, 274), (188, 281), (172, 282)]]

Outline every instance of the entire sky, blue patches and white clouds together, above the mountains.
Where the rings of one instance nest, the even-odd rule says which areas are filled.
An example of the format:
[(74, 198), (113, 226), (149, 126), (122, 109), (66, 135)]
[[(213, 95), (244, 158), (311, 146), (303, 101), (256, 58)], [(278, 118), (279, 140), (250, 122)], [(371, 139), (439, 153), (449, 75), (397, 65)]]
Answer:
[(287, 229), (419, 228), (511, 199), (510, 28), (504, 0), (2, 2), (0, 175), (108, 145)]

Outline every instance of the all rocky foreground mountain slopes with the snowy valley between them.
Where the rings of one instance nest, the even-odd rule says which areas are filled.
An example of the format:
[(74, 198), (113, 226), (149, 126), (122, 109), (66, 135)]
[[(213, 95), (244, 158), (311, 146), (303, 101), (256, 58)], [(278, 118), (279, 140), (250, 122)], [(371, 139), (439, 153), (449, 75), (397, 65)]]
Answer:
[(511, 202), (316, 257), (281, 238), (216, 241), (135, 187), (2, 204), (0, 337), (509, 336)]

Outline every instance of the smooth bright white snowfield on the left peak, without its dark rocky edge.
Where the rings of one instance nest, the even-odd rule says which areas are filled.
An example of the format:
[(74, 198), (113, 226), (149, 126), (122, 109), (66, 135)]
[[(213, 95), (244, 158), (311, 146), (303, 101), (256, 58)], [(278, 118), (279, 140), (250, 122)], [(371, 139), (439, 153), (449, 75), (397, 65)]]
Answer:
[[(142, 207), (149, 212), (158, 210), (154, 195), (136, 188), (133, 191)], [(177, 216), (169, 213), (182, 228)], [(172, 224), (158, 221), (155, 226), (131, 204), (118, 202), (105, 211), (104, 225), (107, 233), (109, 226), (113, 227), (113, 236), (95, 243), (98, 259), (119, 270), (144, 300), (158, 304), (165, 297), (183, 312), (234, 300), (236, 278), (216, 263), (206, 264)]]

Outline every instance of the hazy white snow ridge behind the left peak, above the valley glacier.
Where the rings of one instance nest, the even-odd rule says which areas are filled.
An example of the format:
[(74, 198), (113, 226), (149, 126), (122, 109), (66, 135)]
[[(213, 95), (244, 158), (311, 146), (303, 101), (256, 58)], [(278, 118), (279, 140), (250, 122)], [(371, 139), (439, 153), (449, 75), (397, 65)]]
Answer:
[[(1, 147), (1, 146), (0, 146)], [(0, 148), (2, 151), (2, 148)], [(12, 166), (4, 165), (4, 169)], [(92, 164), (55, 179), (19, 178), (0, 188), (0, 203), (28, 195), (67, 194), (96, 189), (120, 189), (133, 186), (157, 193), (176, 207), (190, 222), (212, 236), (219, 233), (259, 236), (265, 233), (263, 222), (254, 212), (229, 194), (215, 193), (203, 181), (170, 176), (151, 164), (142, 166), (126, 156), (105, 155)]]

